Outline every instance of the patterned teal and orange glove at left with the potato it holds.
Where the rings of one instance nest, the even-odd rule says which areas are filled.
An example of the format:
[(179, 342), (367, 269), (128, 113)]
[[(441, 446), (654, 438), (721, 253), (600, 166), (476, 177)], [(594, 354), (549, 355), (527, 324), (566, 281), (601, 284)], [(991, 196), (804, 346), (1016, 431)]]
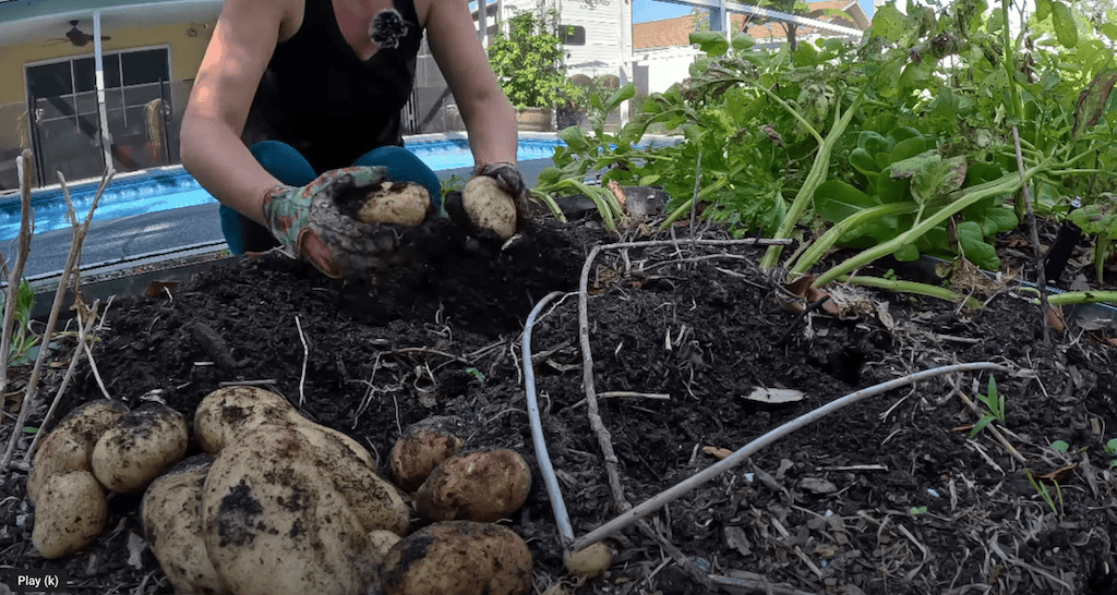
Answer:
[(382, 167), (345, 167), (303, 188), (277, 185), (264, 198), (271, 234), (333, 278), (366, 278), (397, 259), (395, 228), (420, 225), (431, 211), (427, 189), (388, 180)]

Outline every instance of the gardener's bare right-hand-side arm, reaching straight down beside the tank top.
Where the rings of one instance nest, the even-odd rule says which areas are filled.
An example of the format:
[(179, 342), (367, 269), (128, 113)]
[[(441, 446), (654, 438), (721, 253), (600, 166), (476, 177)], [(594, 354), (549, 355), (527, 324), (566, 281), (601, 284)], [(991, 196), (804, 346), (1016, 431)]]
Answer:
[(516, 113), (477, 40), (468, 2), (431, 0), (427, 31), (431, 54), (461, 111), (474, 161), (516, 163)]

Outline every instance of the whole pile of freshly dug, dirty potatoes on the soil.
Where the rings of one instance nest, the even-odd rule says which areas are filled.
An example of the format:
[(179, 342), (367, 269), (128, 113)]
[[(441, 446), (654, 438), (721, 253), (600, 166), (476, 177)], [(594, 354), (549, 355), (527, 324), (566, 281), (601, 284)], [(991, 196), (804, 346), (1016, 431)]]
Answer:
[[(109, 489), (143, 492), (145, 538), (178, 593), (526, 593), (527, 546), (493, 522), (526, 500), (527, 463), (462, 452), (452, 426), (436, 419), (401, 436), (397, 488), (356, 441), (261, 388), (209, 394), (193, 420), (204, 453), (185, 460), (180, 414), (90, 403), (36, 453), (35, 546), (60, 557), (95, 541)], [(408, 535), (409, 502), (433, 524)]]

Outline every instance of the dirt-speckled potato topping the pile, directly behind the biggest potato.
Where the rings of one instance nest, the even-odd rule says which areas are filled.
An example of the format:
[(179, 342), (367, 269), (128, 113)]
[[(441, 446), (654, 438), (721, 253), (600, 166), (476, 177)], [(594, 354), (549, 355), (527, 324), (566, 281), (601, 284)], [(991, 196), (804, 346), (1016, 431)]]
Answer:
[(202, 450), (217, 454), (241, 432), (264, 423), (311, 424), (337, 436), (354, 454), (375, 469), (367, 449), (349, 435), (315, 424), (295, 410), (283, 396), (257, 386), (227, 386), (206, 395), (194, 411), (194, 435)]

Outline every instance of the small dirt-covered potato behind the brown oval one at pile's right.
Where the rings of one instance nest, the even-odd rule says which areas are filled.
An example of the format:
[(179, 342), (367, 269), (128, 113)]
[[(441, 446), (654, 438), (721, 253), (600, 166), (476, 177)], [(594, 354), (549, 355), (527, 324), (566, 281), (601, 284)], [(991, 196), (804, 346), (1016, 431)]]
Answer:
[(450, 416), (428, 418), (403, 432), (392, 447), (391, 467), (395, 484), (413, 492), (442, 461), (461, 452), (456, 435), (460, 421)]

